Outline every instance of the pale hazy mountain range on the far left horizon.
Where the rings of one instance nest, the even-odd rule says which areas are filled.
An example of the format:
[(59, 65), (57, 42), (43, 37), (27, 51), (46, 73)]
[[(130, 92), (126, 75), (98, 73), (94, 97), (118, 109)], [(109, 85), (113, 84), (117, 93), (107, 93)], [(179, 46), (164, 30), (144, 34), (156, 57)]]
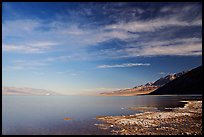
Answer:
[(59, 95), (53, 91), (34, 88), (2, 87), (3, 95)]

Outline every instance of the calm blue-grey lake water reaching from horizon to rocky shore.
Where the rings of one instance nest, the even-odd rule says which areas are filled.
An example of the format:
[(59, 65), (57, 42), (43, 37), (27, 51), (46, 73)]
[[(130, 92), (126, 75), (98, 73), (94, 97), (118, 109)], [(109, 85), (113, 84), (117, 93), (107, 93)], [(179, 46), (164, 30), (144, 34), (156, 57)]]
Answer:
[[(96, 116), (141, 113), (130, 107), (180, 107), (201, 96), (2, 96), (4, 135), (110, 134), (98, 129)], [(69, 117), (72, 120), (65, 121)]]

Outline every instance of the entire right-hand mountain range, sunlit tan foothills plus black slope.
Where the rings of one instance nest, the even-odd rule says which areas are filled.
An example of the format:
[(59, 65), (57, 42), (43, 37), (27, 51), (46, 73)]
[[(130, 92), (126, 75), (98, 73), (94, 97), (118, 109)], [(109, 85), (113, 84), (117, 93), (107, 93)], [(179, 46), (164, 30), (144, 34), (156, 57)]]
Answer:
[(135, 96), (142, 94), (202, 94), (201, 70), (202, 66), (190, 71), (186, 70), (175, 74), (169, 74), (154, 82), (146, 83), (145, 85), (112, 92), (103, 92), (101, 95)]

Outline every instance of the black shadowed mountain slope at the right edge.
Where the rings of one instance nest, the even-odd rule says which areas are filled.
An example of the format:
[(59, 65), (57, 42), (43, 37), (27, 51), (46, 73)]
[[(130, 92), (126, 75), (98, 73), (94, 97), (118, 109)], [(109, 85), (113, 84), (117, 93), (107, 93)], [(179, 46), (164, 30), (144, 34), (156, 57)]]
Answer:
[(178, 78), (149, 94), (202, 94), (202, 66), (192, 69), (183, 75), (178, 75), (180, 75)]

